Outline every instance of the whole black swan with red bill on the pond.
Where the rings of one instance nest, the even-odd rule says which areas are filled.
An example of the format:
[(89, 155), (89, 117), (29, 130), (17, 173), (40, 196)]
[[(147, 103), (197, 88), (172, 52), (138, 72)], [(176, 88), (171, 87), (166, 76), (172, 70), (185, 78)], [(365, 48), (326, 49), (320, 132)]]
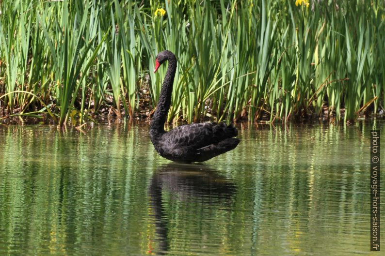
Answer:
[(160, 90), (159, 102), (150, 124), (151, 142), (160, 156), (175, 162), (204, 162), (214, 156), (235, 149), (240, 139), (234, 138), (238, 130), (232, 124), (192, 123), (164, 131), (176, 72), (174, 53), (161, 51), (155, 62), (154, 73), (168, 60), (168, 68)]

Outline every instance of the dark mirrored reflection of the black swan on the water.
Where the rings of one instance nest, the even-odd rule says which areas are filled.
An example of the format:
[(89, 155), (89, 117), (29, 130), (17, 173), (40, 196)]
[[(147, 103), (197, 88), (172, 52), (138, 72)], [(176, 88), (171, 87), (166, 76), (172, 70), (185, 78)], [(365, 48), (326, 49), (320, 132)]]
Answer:
[[(183, 204), (193, 203), (194, 211), (196, 210), (203, 216), (205, 211), (212, 212), (215, 209), (220, 211), (219, 209), (228, 208), (230, 211), (229, 204), (233, 202), (235, 192), (236, 186), (230, 179), (205, 165), (171, 163), (159, 166), (154, 172), (148, 188), (150, 216), (155, 222), (157, 236), (154, 240), (157, 246), (154, 247), (158, 249), (154, 248), (154, 251), (159, 255), (164, 255), (170, 249), (171, 215), (177, 217), (181, 213), (171, 212), (169, 206), (172, 204), (172, 200), (179, 200)], [(169, 202), (167, 203), (167, 201)], [(185, 210), (178, 208), (177, 211)], [(184, 213), (186, 214), (186, 212)], [(201, 221), (200, 216), (193, 215), (192, 217), (187, 221)]]

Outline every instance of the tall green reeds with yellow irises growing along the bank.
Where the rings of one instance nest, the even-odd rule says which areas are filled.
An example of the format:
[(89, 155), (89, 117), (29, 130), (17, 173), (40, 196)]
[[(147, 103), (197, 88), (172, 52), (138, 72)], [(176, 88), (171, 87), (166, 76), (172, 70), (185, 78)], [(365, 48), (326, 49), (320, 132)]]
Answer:
[[(367, 107), (377, 112), (384, 105), (382, 1), (311, 3), (3, 0), (0, 96), (14, 93), (0, 107), (32, 117), (48, 107), (60, 125), (102, 106), (132, 118), (147, 85), (155, 107), (165, 69), (151, 71), (157, 52), (169, 49), (178, 70), (168, 121), (325, 113), (340, 120), (342, 108), (345, 120), (355, 120)], [(154, 15), (159, 7), (165, 15)]]

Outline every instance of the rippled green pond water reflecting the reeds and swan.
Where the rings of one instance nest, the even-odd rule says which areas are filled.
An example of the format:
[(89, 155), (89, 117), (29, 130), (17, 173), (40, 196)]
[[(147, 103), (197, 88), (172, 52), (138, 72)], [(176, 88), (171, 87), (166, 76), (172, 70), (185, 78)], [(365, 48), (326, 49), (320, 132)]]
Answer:
[(383, 124), (242, 124), (203, 165), (162, 159), (145, 125), (0, 126), (0, 255), (374, 255)]

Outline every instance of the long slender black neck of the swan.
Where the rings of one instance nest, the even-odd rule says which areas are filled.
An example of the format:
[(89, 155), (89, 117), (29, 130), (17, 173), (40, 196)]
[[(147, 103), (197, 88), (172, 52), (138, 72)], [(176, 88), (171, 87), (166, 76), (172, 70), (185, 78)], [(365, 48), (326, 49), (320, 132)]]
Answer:
[(160, 90), (159, 101), (150, 125), (150, 135), (164, 133), (164, 123), (171, 105), (171, 93), (176, 72), (176, 58), (174, 54), (168, 58), (168, 68)]

